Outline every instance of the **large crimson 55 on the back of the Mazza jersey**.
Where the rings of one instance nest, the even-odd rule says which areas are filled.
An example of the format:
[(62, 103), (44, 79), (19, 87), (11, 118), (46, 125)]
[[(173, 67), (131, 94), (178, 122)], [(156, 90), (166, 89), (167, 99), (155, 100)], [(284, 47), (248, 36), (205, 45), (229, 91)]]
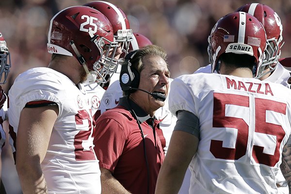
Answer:
[[(248, 141), (249, 126), (242, 118), (226, 116), (226, 105), (237, 105), (242, 107), (250, 107), (249, 97), (234, 94), (213, 94), (213, 127), (214, 128), (233, 128), (237, 129), (237, 139), (235, 148), (223, 147), (223, 141), (211, 140), (210, 152), (215, 158), (226, 160), (239, 160), (246, 154)], [(266, 122), (266, 111), (276, 113), (286, 113), (286, 104), (255, 98), (255, 131), (254, 133), (273, 135), (276, 137), (274, 155), (263, 153), (263, 146), (252, 147), (252, 157), (257, 163), (268, 166), (275, 166), (280, 159), (279, 147), (285, 136), (285, 131), (280, 125)], [(261, 140), (261, 141), (268, 141)]]

